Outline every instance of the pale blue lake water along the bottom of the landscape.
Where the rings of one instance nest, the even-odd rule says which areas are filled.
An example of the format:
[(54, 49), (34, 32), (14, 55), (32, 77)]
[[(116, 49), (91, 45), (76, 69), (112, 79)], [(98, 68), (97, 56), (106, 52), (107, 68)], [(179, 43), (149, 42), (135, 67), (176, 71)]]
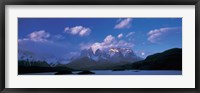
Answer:
[[(80, 71), (73, 71), (77, 75)], [(112, 70), (93, 70), (93, 75), (182, 75), (182, 71), (178, 70), (125, 70), (125, 71), (112, 71)], [(21, 75), (54, 75), (56, 72), (45, 73), (27, 73)]]

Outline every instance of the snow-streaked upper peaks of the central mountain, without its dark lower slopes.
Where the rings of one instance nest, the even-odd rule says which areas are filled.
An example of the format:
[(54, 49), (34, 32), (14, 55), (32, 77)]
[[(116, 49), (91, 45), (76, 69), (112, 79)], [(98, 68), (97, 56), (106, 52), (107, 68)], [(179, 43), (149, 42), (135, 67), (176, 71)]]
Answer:
[(110, 48), (106, 50), (96, 49), (95, 52), (90, 48), (81, 52), (81, 57), (88, 57), (96, 62), (110, 61), (138, 61), (141, 59), (135, 55), (132, 49), (129, 48)]

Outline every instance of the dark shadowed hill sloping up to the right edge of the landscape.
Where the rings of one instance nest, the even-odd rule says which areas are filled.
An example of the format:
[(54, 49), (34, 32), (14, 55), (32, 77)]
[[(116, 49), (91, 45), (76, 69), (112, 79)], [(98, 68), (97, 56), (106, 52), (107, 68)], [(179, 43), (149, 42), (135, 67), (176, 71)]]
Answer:
[(182, 49), (173, 48), (148, 56), (145, 60), (132, 64), (143, 70), (182, 70)]

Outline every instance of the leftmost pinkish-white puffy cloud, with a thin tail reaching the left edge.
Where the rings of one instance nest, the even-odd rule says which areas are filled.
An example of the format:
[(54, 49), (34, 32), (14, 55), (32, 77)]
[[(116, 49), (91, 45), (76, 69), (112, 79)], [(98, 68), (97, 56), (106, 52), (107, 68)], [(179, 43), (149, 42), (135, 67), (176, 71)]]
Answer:
[(22, 41), (34, 41), (34, 42), (46, 42), (50, 37), (50, 34), (44, 30), (34, 31), (28, 35), (28, 38), (18, 39), (18, 42)]

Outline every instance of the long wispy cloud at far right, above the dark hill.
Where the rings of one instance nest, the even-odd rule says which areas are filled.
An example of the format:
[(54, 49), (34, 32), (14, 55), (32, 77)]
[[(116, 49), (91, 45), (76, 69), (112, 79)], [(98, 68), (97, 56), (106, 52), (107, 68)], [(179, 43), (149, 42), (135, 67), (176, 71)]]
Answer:
[(169, 32), (176, 32), (180, 31), (180, 28), (178, 27), (166, 27), (166, 28), (160, 28), (160, 29), (154, 29), (150, 30), (147, 35), (148, 35), (148, 41), (151, 43), (156, 43), (159, 38), (161, 38), (163, 35), (169, 33)]

